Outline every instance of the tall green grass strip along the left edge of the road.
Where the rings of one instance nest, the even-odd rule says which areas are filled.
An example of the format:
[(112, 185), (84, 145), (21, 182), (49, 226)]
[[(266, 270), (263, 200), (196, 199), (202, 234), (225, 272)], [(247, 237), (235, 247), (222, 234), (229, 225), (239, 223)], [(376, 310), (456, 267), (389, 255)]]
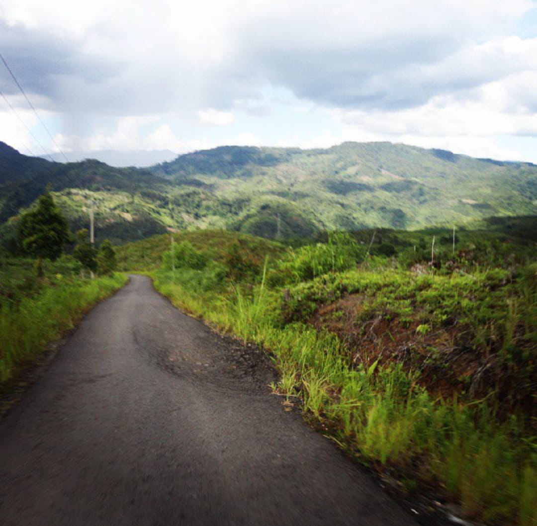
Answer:
[(75, 326), (91, 306), (119, 289), (127, 277), (115, 274), (95, 280), (68, 278), (54, 287), (0, 306), (0, 382), (42, 353), (48, 342)]

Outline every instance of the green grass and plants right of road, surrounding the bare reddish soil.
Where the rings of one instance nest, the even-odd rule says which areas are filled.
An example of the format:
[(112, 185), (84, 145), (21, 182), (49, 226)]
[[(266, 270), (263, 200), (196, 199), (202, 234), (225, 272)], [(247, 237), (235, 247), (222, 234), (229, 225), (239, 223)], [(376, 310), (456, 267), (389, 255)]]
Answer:
[[(176, 261), (175, 273), (164, 254), (165, 265), (151, 275), (156, 289), (180, 308), (269, 349), (281, 373), (274, 392), (287, 403), (300, 399), (304, 416), (352, 455), (416, 481), (402, 484), (403, 490), (432, 486), (459, 502), (467, 518), (535, 526), (536, 422), (514, 402), (509, 414), (500, 411), (499, 384), (490, 385), (484, 399), (456, 391), (452, 398), (438, 397), (423, 385), (419, 368), (386, 361), (381, 350), (365, 360), (344, 338), (311, 325), (320, 305), (359, 295), (352, 320), (358, 333), (372, 318), (408, 324), (418, 342), (446, 327), (464, 328), (468, 353), (495, 357), (531, 394), (534, 265), (415, 275), (389, 258), (368, 258), (352, 268), (349, 254), (363, 261), (363, 251), (336, 245), (281, 254), (240, 279), (231, 279), (226, 265), (236, 261), (226, 259), (224, 249), (217, 259), (222, 273), (206, 282), (210, 258), (192, 269), (185, 261), (199, 266), (200, 258), (186, 246), (190, 252)], [(359, 341), (364, 338), (359, 334)]]

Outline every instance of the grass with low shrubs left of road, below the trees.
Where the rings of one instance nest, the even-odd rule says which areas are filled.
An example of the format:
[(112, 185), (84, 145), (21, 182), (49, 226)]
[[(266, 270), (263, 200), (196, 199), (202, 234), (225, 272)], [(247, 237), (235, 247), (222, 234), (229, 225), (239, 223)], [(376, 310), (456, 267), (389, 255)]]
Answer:
[[(12, 267), (0, 269), (6, 288), (0, 298), (0, 384), (16, 377), (50, 341), (74, 327), (93, 305), (127, 282), (122, 274), (83, 279), (70, 259), (45, 262), (38, 277), (34, 262), (12, 262)], [(63, 273), (56, 272), (61, 269)], [(6, 276), (10, 275), (17, 279), (13, 278), (8, 291)]]

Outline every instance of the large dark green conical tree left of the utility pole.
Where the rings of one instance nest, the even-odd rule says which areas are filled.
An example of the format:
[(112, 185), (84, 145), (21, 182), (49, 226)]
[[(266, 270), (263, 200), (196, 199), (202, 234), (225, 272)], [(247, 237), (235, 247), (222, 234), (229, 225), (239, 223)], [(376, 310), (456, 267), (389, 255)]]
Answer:
[(37, 207), (23, 215), (17, 237), (23, 252), (33, 257), (55, 260), (63, 253), (71, 234), (48, 190), (39, 198)]

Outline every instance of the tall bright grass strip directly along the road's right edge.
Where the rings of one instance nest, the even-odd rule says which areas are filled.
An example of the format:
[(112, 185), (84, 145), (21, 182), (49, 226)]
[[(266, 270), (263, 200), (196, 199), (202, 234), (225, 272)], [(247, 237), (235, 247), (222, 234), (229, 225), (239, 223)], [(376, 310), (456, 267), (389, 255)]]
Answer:
[(273, 388), (300, 396), (309, 418), (355, 455), (436, 485), (466, 517), (537, 524), (536, 441), (516, 417), (499, 423), (482, 401), (433, 399), (400, 366), (352, 364), (334, 335), (278, 324), (279, 293), (264, 279), (253, 290), (214, 295), (155, 277), (177, 305), (270, 349), (281, 371)]

